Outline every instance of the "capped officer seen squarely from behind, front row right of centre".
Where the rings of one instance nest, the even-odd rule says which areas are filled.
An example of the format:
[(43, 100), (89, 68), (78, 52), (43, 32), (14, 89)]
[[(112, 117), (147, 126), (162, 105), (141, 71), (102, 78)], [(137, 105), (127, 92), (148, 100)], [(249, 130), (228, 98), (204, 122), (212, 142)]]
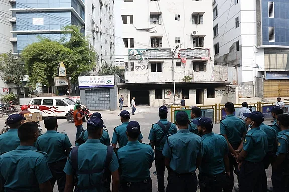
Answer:
[(163, 155), (169, 172), (167, 192), (197, 190), (195, 170), (201, 163), (201, 137), (188, 130), (189, 123), (186, 112), (177, 112), (179, 131), (168, 135), (164, 145)]

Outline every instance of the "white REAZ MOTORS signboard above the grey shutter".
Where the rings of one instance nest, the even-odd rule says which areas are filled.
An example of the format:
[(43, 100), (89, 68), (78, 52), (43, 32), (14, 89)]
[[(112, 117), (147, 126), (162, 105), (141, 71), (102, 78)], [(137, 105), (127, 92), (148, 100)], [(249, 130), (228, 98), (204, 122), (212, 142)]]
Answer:
[(79, 88), (114, 87), (114, 76), (79, 76)]

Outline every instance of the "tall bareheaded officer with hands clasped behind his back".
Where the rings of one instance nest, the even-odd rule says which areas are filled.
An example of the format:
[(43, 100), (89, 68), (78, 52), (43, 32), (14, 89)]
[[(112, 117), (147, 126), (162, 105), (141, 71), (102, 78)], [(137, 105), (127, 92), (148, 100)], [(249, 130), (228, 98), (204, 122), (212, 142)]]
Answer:
[(227, 140), (229, 146), (229, 161), (230, 161), (230, 186), (229, 191), (234, 187), (234, 168), (239, 180), (239, 170), (235, 157), (238, 156), (243, 148), (243, 139), (247, 133), (246, 124), (243, 120), (234, 116), (235, 106), (231, 102), (225, 104), (225, 112), (227, 117), (220, 122), (220, 132)]

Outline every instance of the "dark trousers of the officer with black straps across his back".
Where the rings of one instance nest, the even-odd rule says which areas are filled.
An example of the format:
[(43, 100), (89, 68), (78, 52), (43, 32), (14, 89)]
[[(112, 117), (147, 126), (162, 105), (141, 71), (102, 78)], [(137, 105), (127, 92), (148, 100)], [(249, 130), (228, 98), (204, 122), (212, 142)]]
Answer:
[(162, 154), (162, 151), (155, 149), (155, 165), (158, 178), (158, 191), (165, 191), (165, 157)]

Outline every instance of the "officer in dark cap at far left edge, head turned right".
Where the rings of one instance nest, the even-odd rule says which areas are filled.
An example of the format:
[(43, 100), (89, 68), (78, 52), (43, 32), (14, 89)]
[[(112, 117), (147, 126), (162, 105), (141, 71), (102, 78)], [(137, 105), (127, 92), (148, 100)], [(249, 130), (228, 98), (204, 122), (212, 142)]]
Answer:
[(15, 150), (20, 145), (20, 140), (17, 135), (18, 127), (24, 123), (24, 118), (20, 114), (12, 114), (7, 118), (9, 130), (6, 133), (0, 134), (0, 154)]

